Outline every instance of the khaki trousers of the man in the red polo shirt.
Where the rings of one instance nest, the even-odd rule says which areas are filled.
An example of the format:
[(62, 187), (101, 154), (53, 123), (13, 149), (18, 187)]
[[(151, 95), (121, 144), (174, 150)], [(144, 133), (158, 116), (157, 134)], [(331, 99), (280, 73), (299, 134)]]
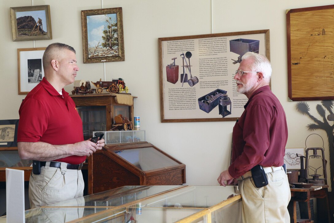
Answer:
[(30, 208), (49, 206), (61, 201), (83, 196), (81, 170), (67, 169), (67, 163), (61, 163), (60, 168), (50, 167), (50, 162), (41, 166), (41, 173), (31, 173), (29, 179)]

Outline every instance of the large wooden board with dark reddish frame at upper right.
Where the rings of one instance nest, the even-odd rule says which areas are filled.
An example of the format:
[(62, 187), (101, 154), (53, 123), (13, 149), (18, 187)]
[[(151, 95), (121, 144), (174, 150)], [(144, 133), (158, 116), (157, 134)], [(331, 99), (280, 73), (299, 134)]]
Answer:
[(334, 99), (334, 5), (287, 10), (288, 96)]

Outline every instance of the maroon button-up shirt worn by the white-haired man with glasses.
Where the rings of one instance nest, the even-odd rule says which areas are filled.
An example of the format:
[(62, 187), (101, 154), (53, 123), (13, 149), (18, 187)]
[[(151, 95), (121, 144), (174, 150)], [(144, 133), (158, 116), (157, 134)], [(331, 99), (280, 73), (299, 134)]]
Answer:
[(232, 163), (229, 174), (237, 178), (254, 166), (282, 166), (288, 127), (284, 109), (277, 97), (264, 86), (247, 101), (233, 127)]

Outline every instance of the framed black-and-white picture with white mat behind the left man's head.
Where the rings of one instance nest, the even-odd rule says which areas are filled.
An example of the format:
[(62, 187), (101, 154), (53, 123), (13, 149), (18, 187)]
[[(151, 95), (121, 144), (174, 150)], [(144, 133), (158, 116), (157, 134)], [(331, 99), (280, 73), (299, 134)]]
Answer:
[(44, 77), (42, 58), (45, 49), (17, 49), (19, 94), (28, 94)]

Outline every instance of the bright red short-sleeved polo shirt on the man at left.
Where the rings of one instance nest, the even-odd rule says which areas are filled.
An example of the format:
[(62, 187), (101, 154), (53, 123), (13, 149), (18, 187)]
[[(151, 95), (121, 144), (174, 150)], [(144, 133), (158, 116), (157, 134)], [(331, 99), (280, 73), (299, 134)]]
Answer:
[[(64, 145), (83, 141), (82, 121), (74, 101), (64, 89), (60, 95), (45, 78), (25, 97), (19, 115), (18, 142)], [(54, 161), (79, 164), (85, 159), (68, 156)]]

